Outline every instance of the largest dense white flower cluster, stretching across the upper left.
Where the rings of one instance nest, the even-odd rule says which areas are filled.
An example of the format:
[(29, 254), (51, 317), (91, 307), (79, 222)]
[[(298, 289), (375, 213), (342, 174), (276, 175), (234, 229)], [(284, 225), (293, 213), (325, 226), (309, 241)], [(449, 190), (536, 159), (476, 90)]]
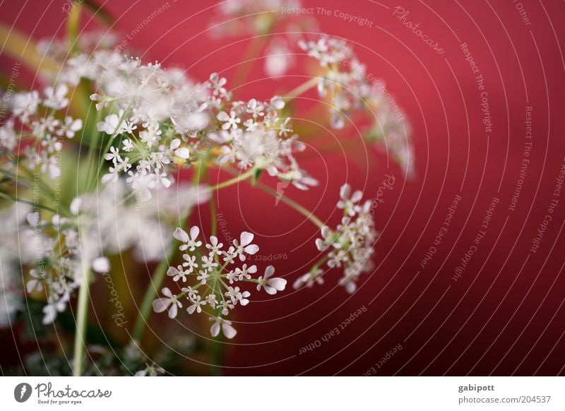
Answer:
[[(47, 89), (44, 104), (65, 107), (67, 84), (76, 86), (81, 78), (93, 82), (96, 93), (90, 99), (102, 116), (97, 130), (109, 141), (104, 156), (109, 167), (102, 182), (117, 181), (125, 175), (141, 201), (148, 201), (158, 186), (170, 186), (174, 170), (189, 167), (202, 153), (215, 157), (220, 164), (266, 169), (271, 176), (292, 181), (300, 189), (317, 183), (293, 155), (304, 145), (292, 134), (290, 118), (282, 115), (285, 102), (281, 97), (266, 102), (232, 101), (225, 78), (217, 73), (204, 83), (194, 83), (178, 69), (141, 64), (117, 52), (99, 50), (67, 60), (59, 76), (63, 83)], [(35, 92), (26, 96), (27, 100), (18, 97), (14, 112), (27, 119), (35, 112), (39, 97)], [(46, 153), (54, 153), (62, 145), (52, 135), (71, 138), (81, 121), (67, 117), (61, 124), (47, 117), (30, 126), (49, 131), (41, 133), (42, 145)], [(2, 135), (6, 136), (3, 145), (15, 145), (12, 129)], [(30, 148), (30, 160), (33, 153)], [(196, 155), (191, 157), (191, 153)], [(47, 160), (41, 157), (38, 161), (46, 167)]]

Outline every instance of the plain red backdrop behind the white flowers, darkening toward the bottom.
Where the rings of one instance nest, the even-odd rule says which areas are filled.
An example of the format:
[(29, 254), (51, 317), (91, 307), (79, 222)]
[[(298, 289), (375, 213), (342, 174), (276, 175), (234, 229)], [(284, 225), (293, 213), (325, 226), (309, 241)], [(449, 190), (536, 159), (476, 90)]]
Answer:
[[(367, 71), (385, 79), (405, 109), (412, 124), (417, 175), (405, 181), (396, 165), (387, 166), (386, 156), (374, 153), (367, 169), (343, 155), (302, 163), (323, 184), (308, 193), (289, 188), (285, 194), (333, 225), (338, 220), (334, 212), (338, 189), (344, 181), (372, 198), (383, 174), (397, 177), (376, 215), (382, 230), (376, 270), (362, 278), (351, 296), (343, 287), (335, 287), (339, 273), (329, 272), (323, 286), (290, 290), (237, 310), (236, 319), (243, 323), (237, 338), (226, 346), (222, 373), (359, 375), (400, 343), (403, 349), (380, 369), (375, 367), (376, 374), (564, 374), (565, 198), (559, 200), (540, 249), (529, 253), (564, 164), (563, 2), (522, 1), (531, 21), (525, 25), (512, 1), (403, 1), (410, 11), (407, 19), (420, 22), (422, 31), (445, 49), (443, 55), (393, 16), (397, 4), (304, 3), (374, 23), (373, 28), (359, 27), (335, 16), (315, 16), (323, 32), (354, 44)], [(35, 38), (61, 36), (63, 4), (5, 1), (0, 20), (32, 32)], [(105, 8), (117, 18), (117, 28), (128, 33), (162, 4), (112, 1)], [(143, 28), (131, 44), (143, 50), (146, 61), (184, 66), (199, 80), (219, 71), (230, 81), (249, 36), (210, 38), (206, 28), (214, 4), (169, 1), (169, 10)], [(245, 41), (231, 44), (239, 40)], [(461, 42), (468, 44), (484, 76), (494, 123), (489, 136), (481, 122), (480, 92)], [(248, 81), (261, 80), (245, 85), (241, 97), (267, 99), (302, 82), (292, 77), (264, 80), (260, 66)], [(516, 210), (511, 211), (525, 143), (526, 106), (533, 107), (533, 148)], [(420, 261), (433, 245), (456, 194), (462, 201), (444, 242), (421, 268)], [(500, 201), (486, 237), (454, 282), (454, 270), (472, 245), (493, 197)], [(301, 216), (285, 205), (275, 205), (272, 198), (245, 185), (222, 191), (219, 201), (232, 235), (250, 230), (257, 233), (261, 254), (287, 253), (287, 259), (273, 264), (291, 283), (316, 258), (315, 227), (302, 224)], [(206, 212), (201, 216), (208, 221)], [(266, 264), (259, 265), (261, 269)], [(339, 335), (299, 355), (301, 347), (319, 340), (363, 305), (367, 312)]]

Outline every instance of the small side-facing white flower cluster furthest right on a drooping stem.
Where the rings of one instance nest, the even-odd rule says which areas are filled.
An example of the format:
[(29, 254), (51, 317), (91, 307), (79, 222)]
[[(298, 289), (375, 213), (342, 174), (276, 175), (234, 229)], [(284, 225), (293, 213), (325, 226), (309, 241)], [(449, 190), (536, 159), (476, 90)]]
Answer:
[[(362, 196), (361, 191), (351, 193), (350, 185), (344, 184), (338, 202), (338, 208), (343, 210), (340, 224), (335, 230), (327, 226), (322, 227), (321, 238), (316, 239), (316, 247), (326, 253), (321, 263), (327, 261), (329, 268), (343, 268), (340, 285), (349, 293), (357, 289), (359, 275), (369, 273), (374, 268), (371, 256), (379, 237), (370, 213), (371, 201), (360, 203)], [(319, 268), (321, 263), (299, 277), (294, 287), (311, 286), (314, 282), (322, 284), (323, 270)]]

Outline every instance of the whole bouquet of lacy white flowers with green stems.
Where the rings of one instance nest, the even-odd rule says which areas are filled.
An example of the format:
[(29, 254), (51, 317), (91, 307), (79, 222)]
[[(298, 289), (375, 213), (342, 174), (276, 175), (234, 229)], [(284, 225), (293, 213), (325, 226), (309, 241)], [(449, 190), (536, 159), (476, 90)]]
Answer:
[[(261, 9), (268, 8), (263, 3)], [(285, 1), (270, 3), (280, 8)], [(281, 76), (300, 53), (316, 59), (316, 73), (307, 73), (306, 81), (287, 93), (243, 101), (234, 98), (219, 73), (198, 81), (179, 68), (131, 56), (115, 35), (76, 36), (78, 13), (89, 4), (73, 6), (66, 41), (37, 44), (42, 61), (37, 73), (50, 85), (2, 90), (8, 109), (0, 126), (0, 326), (11, 325), (24, 301), (41, 304), (41, 322), (48, 326), (76, 298), (73, 374), (85, 374), (86, 357), (103, 348), (87, 339), (89, 306), (97, 304), (90, 285), (106, 281), (113, 287), (118, 279), (111, 261), (131, 251), (138, 266), (157, 264), (130, 322), (131, 342), (123, 357), (136, 357), (152, 312), (176, 318), (184, 309), (185, 315), (209, 319), (213, 337), (221, 330), (234, 338), (237, 330), (228, 319), (234, 309), (249, 304), (253, 292), (273, 295), (287, 287), (284, 273), (275, 277), (275, 267), (251, 263), (249, 256), (259, 250), (253, 233), (222, 239), (214, 212), (209, 230), (189, 221), (200, 205), (210, 203), (213, 210), (216, 192), (235, 184), (278, 196), (319, 230), (320, 256), (311, 270), (291, 280), (295, 288), (321, 284), (326, 273), (339, 271), (345, 292), (355, 292), (359, 275), (373, 268), (379, 237), (372, 202), (362, 201), (362, 192), (344, 182), (335, 193), (343, 218), (328, 227), (287, 196), (299, 197), (319, 185), (300, 165), (307, 145), (292, 124), (299, 116), (293, 100), (311, 89), (317, 89), (321, 107), (328, 107), (328, 114), (312, 121), (326, 121), (339, 131), (363, 116), (370, 124), (364, 143), (382, 145), (405, 175), (413, 172), (404, 115), (391, 105), (382, 82), (369, 81), (352, 47), (328, 35), (276, 38), (264, 48), (268, 74)], [(250, 28), (268, 32), (285, 19), (303, 21), (280, 15), (283, 21), (275, 22), (261, 10), (250, 13), (249, 7), (259, 4), (227, 2), (218, 18), (237, 22), (229, 35)], [(227, 34), (215, 30), (215, 35)], [(4, 35), (8, 52), (18, 47), (17, 33), (10, 36)], [(231, 178), (212, 181), (213, 169)], [(268, 179), (292, 184), (296, 191), (281, 195), (260, 181)], [(120, 308), (118, 299), (113, 303)], [(114, 318), (128, 327), (124, 316)], [(138, 374), (163, 371), (153, 364), (142, 368)]]

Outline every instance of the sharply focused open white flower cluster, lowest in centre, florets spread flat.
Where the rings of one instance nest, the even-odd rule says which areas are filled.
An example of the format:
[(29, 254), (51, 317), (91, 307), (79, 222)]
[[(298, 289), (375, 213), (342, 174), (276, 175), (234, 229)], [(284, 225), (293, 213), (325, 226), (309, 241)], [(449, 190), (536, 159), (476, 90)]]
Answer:
[(218, 336), (221, 329), (227, 338), (234, 338), (237, 331), (232, 322), (224, 317), (238, 304), (249, 304), (251, 296), (251, 292), (239, 285), (252, 283), (257, 291), (263, 289), (268, 294), (276, 294), (285, 290), (287, 280), (273, 278), (273, 266), (268, 266), (263, 275), (254, 278), (257, 266), (243, 263), (246, 256), (256, 254), (259, 250), (256, 244), (252, 244), (254, 234), (242, 232), (239, 241), (234, 239), (227, 249), (215, 236), (210, 236), (210, 242), (203, 244), (198, 239), (199, 234), (200, 228), (197, 226), (188, 233), (181, 228), (174, 231), (173, 237), (181, 242), (179, 250), (186, 252), (182, 254), (183, 262), (176, 267), (169, 267), (167, 275), (179, 284), (180, 292), (174, 294), (164, 287), (161, 292), (165, 297), (153, 301), (153, 310), (157, 313), (167, 311), (170, 318), (175, 318), (178, 309), (183, 308), (182, 301), (187, 299), (189, 305), (186, 311), (189, 314), (206, 314), (213, 321), (210, 328), (213, 337)]

